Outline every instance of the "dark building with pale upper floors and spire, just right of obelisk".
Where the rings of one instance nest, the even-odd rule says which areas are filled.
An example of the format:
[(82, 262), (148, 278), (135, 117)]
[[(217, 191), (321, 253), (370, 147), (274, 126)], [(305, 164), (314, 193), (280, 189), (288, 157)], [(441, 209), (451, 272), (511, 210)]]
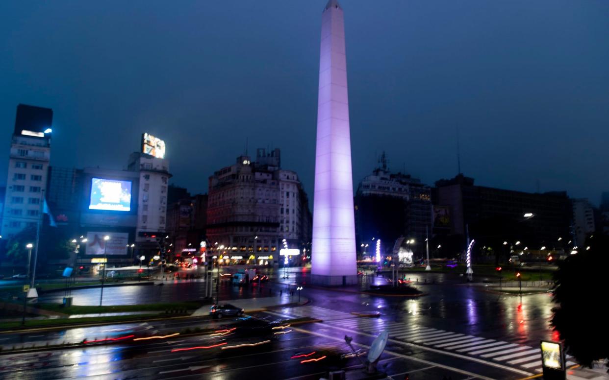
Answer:
[(400, 237), (423, 242), (432, 233), (431, 188), (410, 174), (391, 173), (384, 153), (379, 167), (359, 183), (354, 202), (359, 247), (375, 238), (390, 250)]

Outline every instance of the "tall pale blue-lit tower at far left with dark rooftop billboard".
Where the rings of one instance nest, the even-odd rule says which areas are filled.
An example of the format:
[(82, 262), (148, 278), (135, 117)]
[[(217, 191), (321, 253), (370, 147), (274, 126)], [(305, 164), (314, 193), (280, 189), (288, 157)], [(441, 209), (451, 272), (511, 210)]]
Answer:
[(5, 239), (42, 221), (52, 122), (52, 109), (17, 106), (0, 232)]

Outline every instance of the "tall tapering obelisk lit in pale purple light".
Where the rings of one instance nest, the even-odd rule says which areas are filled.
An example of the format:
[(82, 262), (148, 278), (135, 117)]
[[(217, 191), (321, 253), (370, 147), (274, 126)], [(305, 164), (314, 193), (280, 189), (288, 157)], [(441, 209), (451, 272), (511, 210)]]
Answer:
[(357, 283), (345, 21), (336, 0), (322, 13), (311, 264), (314, 283)]

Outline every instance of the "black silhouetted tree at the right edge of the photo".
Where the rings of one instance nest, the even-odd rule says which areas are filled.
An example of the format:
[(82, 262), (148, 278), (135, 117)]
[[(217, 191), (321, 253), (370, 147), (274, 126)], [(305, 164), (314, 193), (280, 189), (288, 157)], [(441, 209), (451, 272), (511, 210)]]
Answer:
[[(607, 270), (609, 241), (594, 235), (577, 254), (558, 264), (554, 274), (554, 315), (551, 323), (564, 341), (566, 353), (591, 367), (609, 358)], [(609, 366), (609, 361), (607, 361)]]

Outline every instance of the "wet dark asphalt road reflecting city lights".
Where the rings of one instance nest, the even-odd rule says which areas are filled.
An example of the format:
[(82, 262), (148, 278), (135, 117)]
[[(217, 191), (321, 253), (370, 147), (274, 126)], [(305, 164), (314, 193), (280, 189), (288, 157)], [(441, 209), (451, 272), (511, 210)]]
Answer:
[[(301, 364), (290, 359), (295, 353), (312, 352), (329, 346), (347, 350), (345, 334), (354, 336), (354, 342), (369, 345), (381, 330), (389, 330), (390, 342), (381, 364), (390, 375), (410, 373), (411, 379), (494, 378), (516, 379), (537, 373), (540, 339), (555, 337), (547, 320), (551, 316), (551, 297), (547, 294), (526, 295), (520, 303), (518, 296), (497, 295), (462, 285), (459, 279), (452, 285), (431, 277), (418, 287), (428, 293), (418, 299), (378, 297), (374, 295), (327, 291), (309, 288), (308, 273), (292, 271), (286, 283), (305, 283), (302, 295), (311, 299), (308, 305), (280, 308), (270, 313), (259, 313), (271, 319), (313, 316), (323, 320), (298, 326), (298, 330), (281, 335), (276, 342), (257, 347), (222, 353), (217, 348), (180, 351), (205, 342), (204, 336), (167, 339), (146, 344), (118, 342), (103, 347), (54, 350), (42, 353), (0, 356), (0, 378), (55, 379), (90, 376), (100, 379), (128, 378), (205, 378), (238, 379), (257, 376), (264, 379), (319, 378), (325, 366), (323, 360)], [(146, 302), (153, 300), (197, 299), (202, 283), (180, 282), (166, 286), (142, 286), (133, 291), (120, 287), (110, 291), (108, 304), (115, 302)], [(266, 289), (279, 289), (276, 283), (263, 285)], [(150, 289), (150, 290), (145, 290)], [(83, 299), (97, 289), (83, 289)], [(158, 292), (158, 293), (155, 293)], [(224, 285), (221, 299), (250, 297), (247, 288)], [(72, 293), (74, 295), (74, 292)], [(105, 295), (104, 294), (104, 295)], [(259, 295), (258, 292), (256, 294)], [(125, 297), (133, 297), (126, 299)], [(294, 300), (297, 294), (294, 295)], [(75, 299), (76, 300), (76, 299)], [(104, 297), (104, 302), (106, 299)], [(151, 302), (151, 301), (147, 301)], [(77, 303), (77, 302), (75, 302)], [(379, 318), (357, 318), (351, 312), (379, 311)], [(238, 321), (230, 320), (228, 322)], [(0, 344), (19, 345), (23, 342), (58, 342), (82, 340), (91, 337), (121, 336), (121, 334), (169, 334), (194, 326), (219, 326), (222, 322), (206, 319), (181, 319), (143, 324), (99, 326), (52, 331), (49, 333), (1, 334)], [(210, 325), (211, 323), (211, 325)], [(122, 335), (124, 336), (124, 335)], [(203, 339), (203, 340), (202, 340)], [(364, 347), (365, 348), (365, 347)], [(307, 352), (307, 353), (308, 353)], [(351, 359), (348, 365), (356, 365)], [(3, 377), (4, 376), (4, 377)], [(300, 376), (300, 377), (298, 377)], [(401, 378), (403, 375), (396, 376)]]

